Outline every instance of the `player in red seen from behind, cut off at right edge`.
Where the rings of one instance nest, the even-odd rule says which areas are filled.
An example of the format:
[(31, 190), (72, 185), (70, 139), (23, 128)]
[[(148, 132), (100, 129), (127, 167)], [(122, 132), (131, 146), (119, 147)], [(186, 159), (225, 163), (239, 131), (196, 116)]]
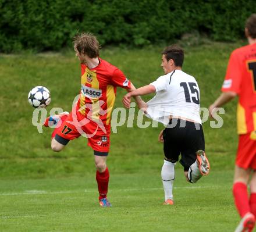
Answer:
[[(211, 116), (214, 108), (224, 105), (236, 95), (239, 96), (239, 145), (234, 169), (233, 195), (241, 222), (236, 232), (252, 231), (256, 217), (256, 14), (247, 19), (245, 34), (248, 45), (232, 52), (222, 94), (209, 106)], [(250, 198), (247, 195), (248, 183)]]

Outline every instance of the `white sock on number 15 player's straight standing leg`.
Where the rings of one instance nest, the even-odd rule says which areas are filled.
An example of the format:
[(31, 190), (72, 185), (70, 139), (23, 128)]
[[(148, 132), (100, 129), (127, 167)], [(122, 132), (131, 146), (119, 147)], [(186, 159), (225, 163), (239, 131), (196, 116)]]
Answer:
[(175, 169), (174, 169), (175, 165), (176, 163), (163, 160), (161, 176), (162, 176), (162, 182), (163, 182), (163, 190), (165, 191), (165, 201), (167, 199), (173, 199), (172, 185), (173, 185), (173, 180), (175, 179)]

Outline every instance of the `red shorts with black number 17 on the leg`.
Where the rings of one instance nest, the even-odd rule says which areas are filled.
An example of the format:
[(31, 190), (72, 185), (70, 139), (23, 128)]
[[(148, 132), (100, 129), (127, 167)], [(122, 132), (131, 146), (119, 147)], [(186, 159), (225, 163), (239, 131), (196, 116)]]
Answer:
[[(73, 117), (73, 114), (75, 115)], [(108, 152), (110, 147), (110, 133), (111, 126), (105, 125), (102, 122), (94, 122), (89, 119), (85, 119), (79, 112), (70, 112), (65, 122), (56, 129), (58, 130), (56, 136), (58, 140), (73, 140), (81, 135), (88, 138), (88, 146), (98, 152)], [(59, 138), (61, 137), (61, 138)], [(63, 144), (62, 141), (59, 141)], [(67, 143), (67, 142), (66, 142)], [(107, 154), (106, 154), (107, 155)]]

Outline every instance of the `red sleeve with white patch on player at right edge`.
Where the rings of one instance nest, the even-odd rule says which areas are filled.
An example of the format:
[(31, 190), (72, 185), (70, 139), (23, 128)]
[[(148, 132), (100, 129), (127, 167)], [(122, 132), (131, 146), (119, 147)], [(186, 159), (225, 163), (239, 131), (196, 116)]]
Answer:
[(225, 80), (221, 88), (222, 92), (232, 91), (239, 94), (242, 77), (241, 72), (239, 58), (235, 52), (232, 52), (229, 58), (229, 64), (227, 65)]

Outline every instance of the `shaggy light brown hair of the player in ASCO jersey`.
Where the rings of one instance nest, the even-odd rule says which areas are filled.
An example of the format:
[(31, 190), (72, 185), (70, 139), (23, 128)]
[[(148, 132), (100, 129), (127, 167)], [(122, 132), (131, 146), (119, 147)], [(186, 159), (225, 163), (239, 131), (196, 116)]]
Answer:
[(90, 58), (97, 58), (99, 56), (99, 42), (97, 38), (91, 33), (81, 33), (77, 34), (73, 38), (74, 48), (79, 51), (79, 53), (86, 54)]

